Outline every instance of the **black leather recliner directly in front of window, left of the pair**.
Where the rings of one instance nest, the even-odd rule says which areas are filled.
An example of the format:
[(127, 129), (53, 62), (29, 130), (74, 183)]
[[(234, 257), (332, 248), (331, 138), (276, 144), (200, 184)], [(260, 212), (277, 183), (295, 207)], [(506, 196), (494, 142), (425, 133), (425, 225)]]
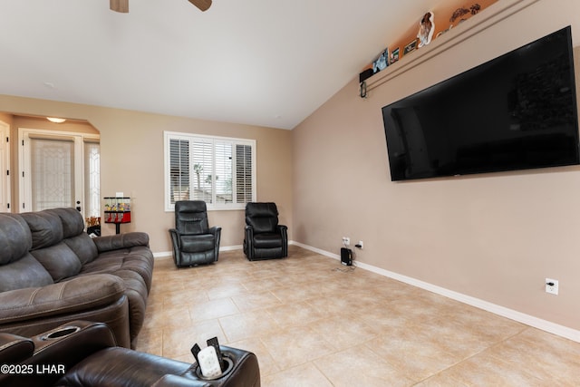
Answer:
[(177, 201), (175, 228), (171, 228), (169, 234), (176, 266), (196, 266), (218, 261), (221, 227), (209, 227), (205, 201)]

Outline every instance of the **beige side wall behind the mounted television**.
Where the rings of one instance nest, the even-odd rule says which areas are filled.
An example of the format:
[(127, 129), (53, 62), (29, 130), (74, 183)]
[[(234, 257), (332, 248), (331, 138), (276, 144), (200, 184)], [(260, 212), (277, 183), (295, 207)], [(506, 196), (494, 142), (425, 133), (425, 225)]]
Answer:
[(294, 239), (335, 254), (362, 239), (363, 263), (577, 330), (580, 167), (393, 183), (387, 161), (382, 106), (568, 24), (580, 45), (580, 2), (524, 4), (423, 63), (443, 40), (412, 53), (367, 100), (353, 80), (293, 131)]

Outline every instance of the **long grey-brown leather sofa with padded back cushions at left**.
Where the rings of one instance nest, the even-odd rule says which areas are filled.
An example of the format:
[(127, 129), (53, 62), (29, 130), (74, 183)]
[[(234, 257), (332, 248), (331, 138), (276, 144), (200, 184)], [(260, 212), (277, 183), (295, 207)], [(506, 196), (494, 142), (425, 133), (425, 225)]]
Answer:
[(89, 320), (134, 347), (152, 274), (145, 233), (91, 238), (74, 208), (0, 214), (0, 332), (33, 336)]

